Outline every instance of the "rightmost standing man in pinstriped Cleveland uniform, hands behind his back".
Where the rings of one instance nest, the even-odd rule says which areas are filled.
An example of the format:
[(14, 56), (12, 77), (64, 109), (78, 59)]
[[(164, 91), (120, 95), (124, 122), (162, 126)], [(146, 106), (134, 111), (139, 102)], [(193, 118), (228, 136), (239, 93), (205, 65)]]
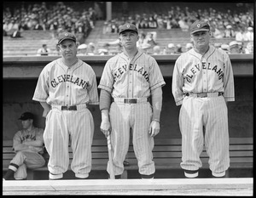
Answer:
[(190, 27), (194, 48), (180, 55), (174, 66), (172, 94), (182, 105), (182, 162), (185, 177), (195, 178), (202, 166), (203, 144), (213, 177), (224, 177), (230, 167), (227, 102), (235, 101), (229, 55), (209, 45), (212, 32), (204, 20)]

